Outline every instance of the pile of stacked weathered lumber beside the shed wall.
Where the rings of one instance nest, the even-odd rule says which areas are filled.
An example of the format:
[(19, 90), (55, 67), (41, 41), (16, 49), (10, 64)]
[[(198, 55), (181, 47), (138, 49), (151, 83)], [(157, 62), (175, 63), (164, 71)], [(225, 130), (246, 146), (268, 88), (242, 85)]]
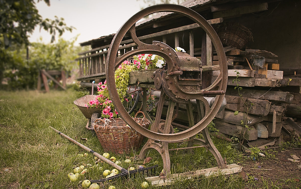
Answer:
[[(228, 63), (227, 105), (224, 117), (215, 120), (219, 132), (240, 137), (244, 131), (242, 125), (246, 124), (251, 128), (246, 131), (247, 140), (279, 137), (282, 126), (286, 126), (283, 123), (285, 116), (301, 118), (301, 94), (299, 91), (293, 93), (288, 87), (299, 89), (301, 68), (279, 70), (277, 55), (258, 49), (241, 51), (225, 47), (225, 54)], [(219, 63), (216, 59), (217, 56), (213, 56), (213, 65)], [(213, 71), (212, 82), (218, 75), (219, 71)], [(239, 92), (234, 89), (237, 84), (242, 87)], [(240, 112), (234, 115), (237, 110)], [(246, 112), (247, 120), (241, 123)]]

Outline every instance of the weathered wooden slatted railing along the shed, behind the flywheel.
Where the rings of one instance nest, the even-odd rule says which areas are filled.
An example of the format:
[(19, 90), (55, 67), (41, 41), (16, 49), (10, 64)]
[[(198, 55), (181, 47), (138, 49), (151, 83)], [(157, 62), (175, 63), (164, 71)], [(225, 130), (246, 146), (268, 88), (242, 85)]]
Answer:
[[(216, 18), (212, 20), (208, 20), (209, 24), (218, 24), (223, 22), (223, 18)], [(152, 33), (145, 36), (138, 37), (139, 40), (142, 42), (153, 41), (153, 40), (161, 40), (163, 43), (166, 43), (166, 36), (168, 35), (169, 38), (173, 35), (175, 47), (179, 46), (179, 32), (183, 31), (192, 31), (197, 28), (200, 28), (198, 24), (190, 24), (182, 27), (172, 28), (169, 30), (164, 30), (157, 33)], [(119, 47), (118, 56), (123, 55), (126, 52), (129, 52), (133, 49), (137, 49), (137, 44), (132, 43), (132, 39), (123, 40)], [(91, 49), (85, 52), (79, 53), (82, 57), (77, 58), (79, 61), (79, 70), (80, 75), (76, 79), (79, 81), (86, 81), (86, 80), (94, 80), (94, 79), (103, 79), (105, 78), (105, 62), (107, 61), (107, 53), (110, 45), (101, 46), (95, 49)], [(189, 54), (191, 56), (195, 55), (195, 48), (194, 46), (194, 33), (189, 32)], [(202, 42), (202, 49), (206, 49), (205, 56), (202, 56), (202, 63), (203, 65), (212, 65), (212, 49), (211, 49), (211, 40), (208, 36), (206, 36), (205, 40), (203, 37)], [(205, 58), (206, 57), (206, 58)]]

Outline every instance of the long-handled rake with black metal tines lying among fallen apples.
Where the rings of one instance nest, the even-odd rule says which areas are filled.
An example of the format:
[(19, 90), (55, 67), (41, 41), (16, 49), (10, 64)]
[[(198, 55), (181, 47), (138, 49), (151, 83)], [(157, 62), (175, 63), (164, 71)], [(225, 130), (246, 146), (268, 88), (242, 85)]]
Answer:
[(119, 173), (117, 175), (114, 175), (112, 177), (98, 179), (98, 180), (90, 180), (91, 182), (104, 182), (104, 181), (109, 181), (109, 180), (113, 180), (115, 178), (124, 177), (124, 176), (130, 177), (130, 175), (132, 175), (132, 174), (134, 174), (134, 176), (135, 176), (135, 173), (138, 173), (138, 172), (142, 172), (143, 175), (144, 175), (144, 172), (146, 172), (146, 174), (148, 175), (148, 173), (149, 173), (148, 170), (150, 170), (150, 172), (154, 172), (154, 169), (156, 167), (158, 167), (158, 165), (154, 165), (154, 166), (151, 166), (151, 167), (145, 167), (145, 168), (142, 168), (142, 169), (135, 169), (135, 170), (132, 170), (132, 171), (128, 171), (128, 170), (122, 168), (121, 166), (117, 165), (116, 163), (112, 162), (111, 160), (105, 158), (104, 156), (101, 156), (99, 153), (97, 153), (94, 150), (88, 148), (87, 146), (84, 146), (83, 144), (77, 142), (76, 140), (73, 140), (72, 138), (68, 137), (64, 133), (56, 130), (55, 128), (53, 128), (51, 126), (49, 126), (49, 127), (51, 129), (53, 129), (55, 132), (57, 132), (59, 135), (61, 135), (62, 137), (67, 138), (69, 141), (73, 142), (77, 146), (81, 147), (82, 149), (86, 150), (87, 152), (92, 153), (94, 156), (98, 157), (102, 161), (106, 162), (107, 164), (109, 164), (109, 165), (113, 166), (114, 168), (118, 169), (119, 171), (121, 171), (121, 173)]

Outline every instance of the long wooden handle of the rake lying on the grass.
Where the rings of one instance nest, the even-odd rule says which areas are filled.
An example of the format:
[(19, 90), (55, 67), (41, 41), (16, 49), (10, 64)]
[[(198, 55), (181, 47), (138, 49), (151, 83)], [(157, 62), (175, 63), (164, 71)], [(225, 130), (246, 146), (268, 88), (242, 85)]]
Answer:
[(55, 128), (49, 126), (51, 129), (53, 129), (55, 132), (57, 132), (59, 135), (67, 138), (68, 140), (70, 140), (71, 142), (73, 142), (74, 144), (76, 144), (77, 146), (81, 147), (82, 149), (86, 150), (87, 152), (92, 153), (94, 156), (98, 157), (99, 159), (101, 159), (102, 161), (106, 162), (107, 164), (115, 167), (116, 169), (118, 169), (121, 172), (126, 172), (128, 173), (128, 170), (120, 167), (119, 165), (117, 165), (116, 163), (112, 162), (110, 159), (105, 158), (104, 156), (101, 156), (99, 153), (93, 151), (92, 149), (88, 148), (87, 146), (82, 145), (81, 143), (77, 142), (76, 140), (73, 140), (72, 138), (68, 137), (67, 135), (65, 135), (64, 133), (57, 131)]

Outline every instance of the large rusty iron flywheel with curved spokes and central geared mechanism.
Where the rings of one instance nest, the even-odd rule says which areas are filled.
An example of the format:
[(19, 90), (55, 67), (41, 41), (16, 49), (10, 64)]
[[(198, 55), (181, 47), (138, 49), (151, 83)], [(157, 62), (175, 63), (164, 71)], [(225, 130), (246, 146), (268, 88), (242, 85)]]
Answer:
[[(185, 64), (185, 61), (189, 61), (188, 65), (190, 64), (197, 65), (198, 63), (195, 62), (196, 60), (193, 60), (194, 57), (189, 57), (188, 54), (186, 53), (183, 54), (183, 52), (175, 52), (171, 47), (169, 47), (168, 45), (162, 42), (153, 41), (152, 44), (146, 44), (146, 43), (142, 43), (138, 39), (135, 32), (136, 22), (141, 18), (143, 18), (144, 16), (156, 12), (174, 12), (174, 13), (182, 14), (190, 18), (191, 20), (194, 20), (194, 22), (199, 24), (200, 27), (208, 34), (208, 36), (212, 40), (213, 46), (216, 49), (217, 56), (219, 59), (219, 66), (220, 66), (219, 76), (209, 87), (205, 89), (200, 89), (196, 87), (194, 90), (190, 90), (189, 88), (183, 87), (183, 85), (181, 84), (181, 82), (183, 82), (181, 80), (181, 75), (183, 74), (183, 72), (185, 72), (184, 69), (185, 66), (183, 66), (183, 64)], [(118, 48), (121, 44), (121, 41), (123, 40), (127, 32), (130, 32), (132, 39), (134, 43), (137, 44), (138, 48), (126, 52), (124, 55), (120, 57), (116, 57), (116, 55), (118, 54)], [(202, 102), (206, 113), (199, 122), (197, 122), (196, 124), (194, 124), (194, 126), (192, 126), (191, 128), (185, 131), (169, 134), (169, 132), (160, 133), (156, 130), (152, 130), (152, 129), (148, 130), (146, 128), (143, 128), (132, 119), (132, 117), (128, 114), (126, 109), (123, 107), (122, 102), (119, 100), (119, 96), (116, 90), (114, 71), (124, 60), (126, 60), (127, 58), (133, 55), (139, 55), (139, 54), (156, 54), (163, 57), (166, 60), (166, 69), (157, 70), (156, 73), (154, 73), (155, 85), (157, 85), (158, 87), (157, 89), (161, 90), (160, 98), (165, 99), (165, 96), (168, 96), (169, 99), (171, 99), (173, 102), (184, 103), (184, 104), (185, 103), (187, 104), (193, 99)], [(195, 68), (195, 71), (197, 71), (197, 68)], [(199, 69), (198, 71), (201, 74), (202, 70)], [(157, 141), (163, 141), (163, 142), (175, 142), (179, 140), (184, 140), (202, 131), (213, 120), (213, 118), (216, 116), (217, 112), (219, 111), (219, 108), (222, 105), (222, 101), (224, 99), (224, 94), (227, 87), (227, 79), (228, 79), (228, 74), (227, 74), (228, 70), (227, 70), (227, 61), (226, 61), (225, 52), (222, 43), (218, 35), (216, 34), (215, 30), (213, 29), (213, 27), (197, 12), (180, 5), (171, 5), (171, 4), (155, 5), (155, 6), (145, 8), (142, 11), (139, 11), (134, 16), (132, 16), (128, 21), (126, 21), (123, 24), (123, 26), (118, 30), (118, 32), (115, 34), (112, 40), (108, 52), (107, 62), (106, 62), (106, 73), (107, 73), (107, 87), (110, 93), (110, 97), (113, 101), (113, 104), (117, 112), (119, 113), (119, 116), (123, 118), (123, 120), (127, 124), (129, 124), (135, 131), (138, 131), (145, 137)], [(198, 80), (195, 79), (194, 81), (197, 82)], [(192, 85), (197, 86), (198, 83), (193, 83), (194, 81), (191, 81)], [(211, 107), (209, 106), (207, 100), (204, 98), (204, 95), (216, 95), (216, 99)], [(164, 99), (159, 100), (159, 107), (157, 108), (156, 119), (153, 123), (153, 124), (158, 124), (156, 126), (157, 128), (159, 128), (159, 124), (162, 124), (160, 123), (160, 118), (161, 118), (163, 103), (160, 104), (160, 101), (163, 102)], [(171, 108), (171, 110), (173, 110), (173, 108)], [(170, 124), (171, 122), (170, 120), (171, 118), (169, 118), (169, 120), (166, 120), (165, 124)]]

